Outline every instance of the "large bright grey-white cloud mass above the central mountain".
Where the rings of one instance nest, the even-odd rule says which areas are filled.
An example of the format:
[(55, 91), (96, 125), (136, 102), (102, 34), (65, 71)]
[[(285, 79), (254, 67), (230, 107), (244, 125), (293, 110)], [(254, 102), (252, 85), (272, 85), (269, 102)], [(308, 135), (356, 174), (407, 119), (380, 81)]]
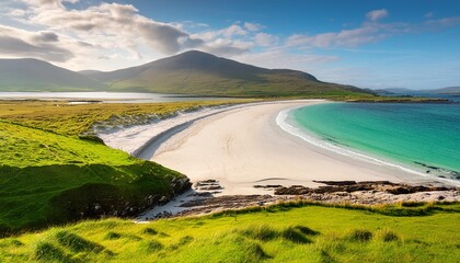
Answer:
[[(30, 33), (37, 28), (43, 31), (35, 34), (35, 41), (47, 41), (48, 46), (57, 46), (57, 42), (65, 36), (66, 43), (69, 44), (73, 56), (38, 56), (34, 53), (34, 57), (42, 59), (46, 57), (49, 61), (72, 59), (69, 65), (76, 65), (76, 60), (87, 60), (88, 65), (92, 65), (96, 64), (94, 62), (96, 58), (119, 59), (114, 54), (127, 55), (129, 57), (127, 59), (151, 60), (187, 49), (232, 56), (249, 52), (253, 46), (242, 38), (250, 37), (251, 31), (239, 24), (209, 31), (208, 25), (189, 21), (183, 23), (154, 21), (139, 14), (139, 10), (131, 4), (101, 2), (77, 10), (68, 9), (66, 3), (76, 3), (78, 0), (18, 1), (26, 4), (24, 10), (26, 18), (21, 22), (27, 25)], [(184, 30), (193, 26), (205, 32), (191, 34)], [(255, 26), (257, 25), (248, 24), (252, 30)], [(62, 48), (62, 45), (59, 48)], [(0, 55), (7, 55), (9, 50), (3, 48)], [(88, 55), (91, 57), (82, 57)]]

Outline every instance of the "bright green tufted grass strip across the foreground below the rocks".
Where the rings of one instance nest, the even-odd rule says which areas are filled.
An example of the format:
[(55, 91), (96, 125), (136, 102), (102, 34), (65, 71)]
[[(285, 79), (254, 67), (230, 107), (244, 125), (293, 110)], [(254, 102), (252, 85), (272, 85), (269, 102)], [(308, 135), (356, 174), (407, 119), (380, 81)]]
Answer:
[(84, 221), (0, 240), (0, 261), (459, 262), (459, 204), (402, 207), (398, 209), (430, 213), (394, 217), (278, 206), (147, 225)]

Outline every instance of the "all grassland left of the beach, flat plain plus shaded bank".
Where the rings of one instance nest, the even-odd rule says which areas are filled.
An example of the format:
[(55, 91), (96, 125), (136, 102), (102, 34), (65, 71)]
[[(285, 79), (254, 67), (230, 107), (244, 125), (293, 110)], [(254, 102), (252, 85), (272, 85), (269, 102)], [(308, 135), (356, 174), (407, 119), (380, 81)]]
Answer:
[[(139, 122), (218, 103), (56, 106), (56, 102), (1, 102), (0, 232), (115, 215), (115, 210), (116, 215), (133, 214), (172, 195), (170, 184), (182, 174), (76, 135), (95, 122)], [(134, 210), (125, 210), (127, 203)], [(94, 210), (96, 205), (100, 208)]]

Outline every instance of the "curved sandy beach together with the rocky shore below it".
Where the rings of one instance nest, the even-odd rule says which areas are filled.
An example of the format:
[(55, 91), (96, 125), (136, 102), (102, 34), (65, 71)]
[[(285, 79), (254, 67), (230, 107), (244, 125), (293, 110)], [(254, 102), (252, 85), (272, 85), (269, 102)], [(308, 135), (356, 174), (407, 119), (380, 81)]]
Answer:
[[(390, 181), (407, 185), (446, 185), (436, 178), (422, 178), (394, 167), (338, 155), (311, 145), (298, 136), (287, 133), (278, 125), (277, 118), (283, 112), (325, 102), (327, 101), (256, 102), (205, 108), (179, 114), (176, 117), (157, 123), (108, 133), (108, 138), (113, 140), (110, 140), (111, 144), (107, 145), (113, 148), (120, 149), (127, 142), (135, 142), (128, 144), (131, 155), (136, 153), (142, 159), (152, 160), (180, 171), (195, 184), (207, 180), (219, 182), (219, 186), (214, 191), (203, 192), (195, 185), (194, 190), (176, 196), (172, 202), (140, 214), (137, 221), (169, 217), (174, 214), (188, 215), (185, 210), (189, 209), (198, 210), (200, 214), (203, 210), (212, 213), (232, 208), (233, 206), (226, 205), (228, 203), (226, 199), (240, 199), (242, 204), (238, 207), (241, 208), (258, 203), (268, 205), (274, 202), (296, 198), (313, 198), (315, 202), (326, 203), (327, 198), (332, 198), (334, 202), (344, 203), (350, 202), (350, 198), (364, 196), (365, 202), (370, 199), (369, 202), (378, 204), (376, 199), (387, 196), (387, 201), (393, 202), (407, 198), (411, 202), (426, 202), (426, 196), (430, 195), (418, 194), (403, 198), (390, 198), (388, 195), (376, 193), (338, 194), (322, 197), (317, 195), (313, 197), (306, 195), (276, 196), (274, 195), (275, 188), (254, 187), (255, 185), (280, 185), (284, 187), (301, 185), (321, 188), (324, 184), (318, 181), (345, 180), (356, 182)], [(102, 137), (104, 139), (104, 136)], [(206, 197), (203, 198), (203, 195)], [(453, 199), (448, 199), (460, 201), (458, 190), (439, 192), (429, 201), (437, 201), (436, 196), (453, 196)], [(182, 206), (184, 203), (196, 203), (197, 198), (208, 199), (207, 202), (212, 205), (204, 203), (199, 209)], [(220, 201), (223, 202), (222, 206), (216, 205)], [(384, 201), (382, 199), (382, 202)]]

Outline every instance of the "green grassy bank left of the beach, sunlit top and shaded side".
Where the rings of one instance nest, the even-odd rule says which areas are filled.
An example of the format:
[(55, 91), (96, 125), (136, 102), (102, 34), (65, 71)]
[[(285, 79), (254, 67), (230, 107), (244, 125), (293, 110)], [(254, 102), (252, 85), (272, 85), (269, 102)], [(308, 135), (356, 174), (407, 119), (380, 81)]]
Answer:
[(171, 181), (183, 176), (97, 142), (5, 123), (0, 147), (3, 231), (91, 218), (95, 204), (100, 213), (145, 206), (149, 195), (171, 195)]

